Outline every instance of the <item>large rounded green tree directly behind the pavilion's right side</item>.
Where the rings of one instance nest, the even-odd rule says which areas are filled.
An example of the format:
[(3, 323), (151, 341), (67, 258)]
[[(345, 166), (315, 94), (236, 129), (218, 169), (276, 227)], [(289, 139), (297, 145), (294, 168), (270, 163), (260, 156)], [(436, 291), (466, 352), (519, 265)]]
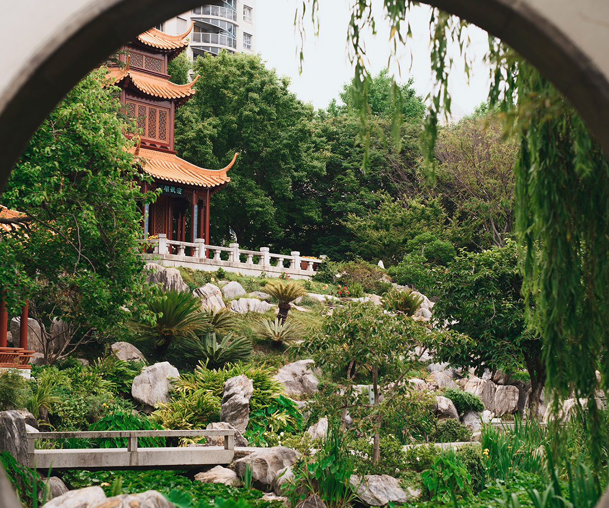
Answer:
[(298, 247), (303, 231), (321, 220), (315, 179), (326, 156), (312, 107), (257, 55), (200, 57), (194, 73), (197, 93), (176, 113), (176, 149), (206, 168), (240, 153), (230, 185), (211, 200), (212, 240), (234, 232), (250, 247)]

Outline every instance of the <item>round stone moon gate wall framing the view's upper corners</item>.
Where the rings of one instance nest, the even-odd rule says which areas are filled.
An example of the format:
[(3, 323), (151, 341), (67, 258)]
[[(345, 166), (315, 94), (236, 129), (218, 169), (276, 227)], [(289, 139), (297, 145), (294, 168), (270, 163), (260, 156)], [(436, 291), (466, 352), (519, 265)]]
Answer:
[[(325, 0), (320, 0), (325, 1)], [(501, 38), (568, 97), (609, 153), (609, 2), (423, 0)], [(77, 81), (122, 43), (197, 0), (29, 0), (0, 32), (0, 189), (30, 136)]]

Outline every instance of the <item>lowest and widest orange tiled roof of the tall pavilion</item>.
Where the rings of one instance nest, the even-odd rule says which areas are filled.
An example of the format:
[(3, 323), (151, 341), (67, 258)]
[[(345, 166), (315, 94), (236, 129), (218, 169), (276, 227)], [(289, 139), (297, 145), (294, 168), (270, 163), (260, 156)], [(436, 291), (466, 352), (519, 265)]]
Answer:
[(160, 152), (144, 147), (133, 150), (136, 157), (146, 160), (142, 166), (144, 171), (155, 178), (186, 185), (216, 187), (216, 190), (230, 182), (227, 172), (237, 158), (235, 153), (230, 164), (222, 169), (203, 169), (177, 157), (173, 153)]

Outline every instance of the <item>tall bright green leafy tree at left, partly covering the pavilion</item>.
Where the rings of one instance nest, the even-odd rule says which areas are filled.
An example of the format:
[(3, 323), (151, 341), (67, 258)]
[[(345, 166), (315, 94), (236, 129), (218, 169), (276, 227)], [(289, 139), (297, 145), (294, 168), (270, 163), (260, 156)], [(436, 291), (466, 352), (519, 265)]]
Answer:
[[(30, 317), (49, 330), (46, 361), (103, 336), (141, 310), (143, 261), (136, 182), (146, 180), (128, 152), (129, 128), (104, 69), (85, 77), (44, 121), (16, 164), (4, 205), (24, 214), (0, 238), (0, 286), (9, 311), (29, 298)], [(55, 330), (58, 327), (55, 326)]]

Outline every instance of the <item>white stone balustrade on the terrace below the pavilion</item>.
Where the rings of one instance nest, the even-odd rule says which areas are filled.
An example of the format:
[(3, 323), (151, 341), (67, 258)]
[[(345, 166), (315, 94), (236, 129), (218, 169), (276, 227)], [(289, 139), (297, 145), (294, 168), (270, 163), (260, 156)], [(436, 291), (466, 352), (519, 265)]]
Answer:
[[(326, 256), (320, 256), (320, 259), (308, 258), (301, 256), (298, 251), (292, 251), (290, 255), (276, 254), (270, 252), (269, 247), (246, 250), (239, 249), (239, 244), (229, 244), (228, 247), (206, 245), (203, 238), (197, 238), (194, 242), (178, 242), (167, 239), (162, 233), (158, 238), (147, 238), (140, 242), (148, 245), (148, 249), (152, 250), (144, 254), (144, 257), (163, 266), (182, 266), (206, 272), (221, 267), (229, 272), (240, 272), (256, 277), (265, 272), (268, 277), (279, 277), (281, 273), (286, 273), (290, 278), (311, 278), (315, 275), (317, 264), (326, 258)], [(228, 253), (228, 259), (222, 259), (222, 252)], [(245, 261), (241, 261), (242, 257)]]

